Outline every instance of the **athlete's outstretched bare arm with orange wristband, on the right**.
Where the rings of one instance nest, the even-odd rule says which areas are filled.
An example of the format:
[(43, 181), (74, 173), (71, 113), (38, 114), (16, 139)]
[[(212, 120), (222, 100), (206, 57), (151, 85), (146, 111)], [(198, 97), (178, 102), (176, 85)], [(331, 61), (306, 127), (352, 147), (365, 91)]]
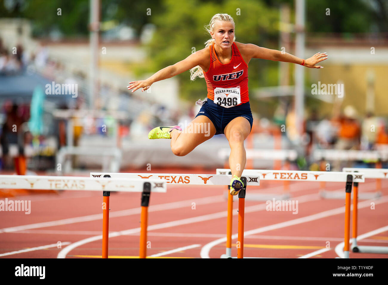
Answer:
[[(275, 49), (266, 49), (265, 47), (258, 47), (257, 45), (254, 45), (252, 43), (248, 43), (246, 45), (246, 49), (248, 54), (250, 54), (252, 58), (269, 59), (273, 61), (282, 61), (285, 63), (303, 63), (303, 59), (293, 56), (292, 54), (289, 54), (287, 52), (281, 52), (280, 50)], [(327, 59), (327, 54), (322, 54), (318, 52), (314, 54), (314, 56), (306, 59), (304, 66), (309, 68), (323, 68), (323, 66), (315, 64), (320, 63), (325, 59)]]

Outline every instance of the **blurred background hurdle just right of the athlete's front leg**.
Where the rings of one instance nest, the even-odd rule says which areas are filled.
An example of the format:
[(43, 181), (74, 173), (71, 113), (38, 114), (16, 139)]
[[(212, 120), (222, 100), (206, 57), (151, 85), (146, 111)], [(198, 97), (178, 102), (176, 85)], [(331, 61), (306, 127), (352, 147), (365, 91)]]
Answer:
[[(225, 161), (225, 165), (228, 163), (227, 160), (230, 155), (230, 148), (221, 148), (218, 151), (218, 157)], [(294, 149), (246, 149), (246, 159), (261, 159), (261, 160), (275, 160), (275, 161), (285, 161), (284, 168), (289, 169), (291, 161), (295, 161), (298, 157), (298, 153)], [(251, 163), (253, 165), (253, 163)], [(279, 167), (280, 169), (280, 167)], [(289, 182), (284, 181), (283, 184), (283, 193), (276, 198), (279, 200), (289, 198)], [(228, 194), (228, 193), (226, 193)], [(246, 200), (250, 201), (265, 201), (268, 200), (268, 194), (253, 194), (248, 193), (246, 195)], [(227, 198), (227, 197), (225, 197)], [(229, 196), (228, 196), (229, 198)]]

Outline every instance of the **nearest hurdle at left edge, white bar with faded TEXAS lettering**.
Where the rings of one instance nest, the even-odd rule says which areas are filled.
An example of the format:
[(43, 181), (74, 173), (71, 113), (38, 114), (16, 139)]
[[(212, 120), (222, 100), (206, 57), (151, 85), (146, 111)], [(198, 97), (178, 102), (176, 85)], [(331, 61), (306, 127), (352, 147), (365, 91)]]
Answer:
[[(109, 237), (109, 196), (110, 191), (142, 192), (143, 202), (148, 204), (152, 192), (165, 193), (166, 181), (163, 179), (128, 179), (111, 178), (109, 175), (101, 178), (77, 176), (27, 176), (27, 175), (0, 175), (0, 189), (30, 189), (30, 190), (75, 190), (75, 191), (102, 191), (102, 258), (108, 258)], [(147, 210), (147, 209), (145, 209)], [(147, 231), (147, 213), (142, 209), (141, 232)], [(140, 254), (144, 256), (146, 240), (140, 240)]]

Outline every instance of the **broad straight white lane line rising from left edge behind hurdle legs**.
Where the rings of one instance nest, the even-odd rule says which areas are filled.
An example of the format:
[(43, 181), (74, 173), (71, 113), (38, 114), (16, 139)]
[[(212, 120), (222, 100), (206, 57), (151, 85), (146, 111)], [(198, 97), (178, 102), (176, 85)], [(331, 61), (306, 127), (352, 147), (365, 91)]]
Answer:
[[(195, 201), (196, 205), (206, 205), (211, 203), (225, 202), (225, 198), (223, 197), (223, 195), (210, 196), (210, 197), (204, 197), (204, 198), (192, 198), (190, 200), (152, 205), (152, 206), (149, 206), (148, 211), (155, 212), (155, 211), (162, 211), (162, 210), (178, 209), (183, 207), (191, 207), (191, 203), (193, 201)], [(109, 219), (114, 217), (123, 217), (123, 216), (140, 214), (140, 212), (141, 212), (141, 208), (133, 208), (128, 210), (110, 212)], [(102, 220), (102, 214), (87, 215), (87, 216), (74, 217), (74, 218), (62, 219), (57, 221), (38, 222), (35, 224), (27, 224), (23, 226), (3, 228), (3, 229), (0, 229), (0, 233), (12, 233), (15, 231), (23, 231), (26, 229), (45, 228), (45, 227), (59, 226), (59, 225), (65, 225), (65, 224), (74, 224), (76, 222), (88, 222), (88, 221), (95, 221), (95, 220)]]

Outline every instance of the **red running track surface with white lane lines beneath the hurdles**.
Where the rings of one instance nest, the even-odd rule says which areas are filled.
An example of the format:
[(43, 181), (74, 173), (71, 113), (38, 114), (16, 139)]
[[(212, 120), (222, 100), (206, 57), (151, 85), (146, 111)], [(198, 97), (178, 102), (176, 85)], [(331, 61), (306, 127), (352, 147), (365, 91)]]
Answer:
[[(214, 173), (214, 170), (158, 169), (152, 172)], [(261, 181), (260, 184), (256, 189), (249, 187), (247, 193), (282, 193), (282, 182)], [(360, 183), (359, 191), (373, 192), (375, 186), (373, 179), (367, 179), (364, 184)], [(246, 200), (244, 230), (256, 231), (245, 236), (244, 257), (297, 258), (310, 253), (313, 253), (310, 258), (337, 257), (334, 248), (343, 242), (345, 199), (322, 199), (318, 188), (318, 182), (290, 184), (288, 200), (298, 201), (297, 213), (296, 209), (267, 211), (265, 201)], [(382, 181), (382, 188), (382, 198), (359, 201), (359, 235), (388, 224), (388, 181)], [(208, 254), (219, 258), (224, 254), (225, 242), (212, 242), (224, 238), (226, 233), (225, 189), (224, 186), (169, 185), (167, 193), (152, 193), (147, 256), (200, 258)], [(345, 183), (327, 183), (326, 189), (345, 192)], [(12, 199), (31, 200), (31, 214), (0, 212), (0, 258), (101, 256), (102, 240), (98, 236), (102, 234), (102, 193), (62, 191)], [(374, 209), (371, 203), (375, 203)], [(109, 233), (116, 232), (117, 236), (109, 238), (109, 256), (138, 256), (140, 193), (111, 193), (110, 208)], [(236, 199), (233, 233), (237, 233), (237, 208)], [(232, 241), (234, 256), (236, 240)], [(48, 245), (48, 248), (38, 248)], [(388, 246), (387, 229), (359, 241), (359, 245)], [(387, 257), (386, 254), (350, 253), (350, 258)]]

